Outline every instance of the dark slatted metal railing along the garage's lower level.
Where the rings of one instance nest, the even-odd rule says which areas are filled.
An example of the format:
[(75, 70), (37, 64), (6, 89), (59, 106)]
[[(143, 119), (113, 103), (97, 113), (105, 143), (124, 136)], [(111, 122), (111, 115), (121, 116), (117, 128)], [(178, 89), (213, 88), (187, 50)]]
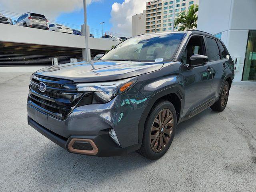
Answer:
[(42, 56), (21, 54), (0, 54), (1, 66), (52, 66), (70, 62), (80, 62), (82, 57), (74, 56)]

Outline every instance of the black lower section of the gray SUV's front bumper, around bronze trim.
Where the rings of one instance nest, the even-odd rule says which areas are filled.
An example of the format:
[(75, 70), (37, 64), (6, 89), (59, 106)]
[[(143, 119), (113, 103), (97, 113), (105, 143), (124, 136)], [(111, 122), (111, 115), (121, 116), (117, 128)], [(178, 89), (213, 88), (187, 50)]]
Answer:
[(70, 151), (70, 148), (68, 147), (72, 139), (87, 139), (92, 140), (94, 144), (97, 146), (97, 153), (96, 154), (90, 154), (90, 153), (82, 153), (82, 152), (72, 152), (72, 153), (78, 153), (78, 154), (86, 154), (86, 155), (92, 155), (92, 156), (120, 156), (123, 154), (127, 154), (129, 152), (138, 150), (140, 148), (139, 144), (127, 147), (127, 148), (121, 148), (117, 146), (114, 141), (111, 140), (111, 138), (108, 136), (108, 132), (102, 132), (100, 135), (95, 136), (70, 136), (69, 138), (64, 138), (45, 127), (41, 126), (34, 120), (32, 120), (28, 116), (28, 124), (32, 126), (35, 130), (40, 132), (42, 135), (50, 139), (52, 142), (58, 144), (60, 147), (64, 148), (65, 150)]

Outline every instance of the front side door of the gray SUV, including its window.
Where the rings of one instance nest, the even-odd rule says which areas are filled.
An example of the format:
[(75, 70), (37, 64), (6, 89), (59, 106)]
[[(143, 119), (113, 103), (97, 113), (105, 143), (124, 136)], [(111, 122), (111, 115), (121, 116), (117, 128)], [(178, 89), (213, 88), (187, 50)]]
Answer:
[[(206, 55), (203, 36), (192, 36), (182, 54), (182, 62), (190, 64), (190, 57), (194, 54)], [(208, 107), (212, 86), (212, 67), (209, 63), (197, 66), (192, 70), (185, 68), (184, 72), (183, 108), (184, 120), (190, 118)]]

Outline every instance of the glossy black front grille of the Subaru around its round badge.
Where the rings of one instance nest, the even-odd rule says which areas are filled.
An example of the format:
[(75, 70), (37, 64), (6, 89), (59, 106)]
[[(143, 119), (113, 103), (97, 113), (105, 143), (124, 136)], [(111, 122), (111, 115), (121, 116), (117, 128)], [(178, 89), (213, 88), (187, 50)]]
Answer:
[[(40, 82), (46, 84), (45, 92), (38, 89)], [(30, 82), (28, 104), (51, 116), (65, 119), (80, 100), (83, 105), (91, 104), (91, 95), (92, 93), (77, 92), (75, 84), (68, 80), (33, 76)]]

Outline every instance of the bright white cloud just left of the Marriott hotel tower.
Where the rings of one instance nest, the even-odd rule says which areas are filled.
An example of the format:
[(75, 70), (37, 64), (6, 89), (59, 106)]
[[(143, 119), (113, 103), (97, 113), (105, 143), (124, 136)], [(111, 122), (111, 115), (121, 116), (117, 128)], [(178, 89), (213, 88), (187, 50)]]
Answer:
[(148, 0), (124, 0), (121, 3), (112, 4), (110, 22), (113, 25), (111, 31), (120, 34), (132, 34), (132, 15), (142, 13), (146, 9)]

